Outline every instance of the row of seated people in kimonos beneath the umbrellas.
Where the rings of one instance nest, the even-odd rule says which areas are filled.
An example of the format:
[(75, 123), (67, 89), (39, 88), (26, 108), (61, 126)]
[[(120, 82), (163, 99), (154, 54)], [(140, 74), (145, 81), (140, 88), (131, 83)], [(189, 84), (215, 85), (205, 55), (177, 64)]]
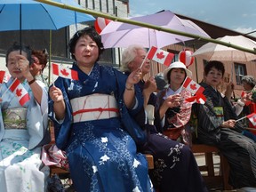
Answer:
[[(182, 85), (193, 75), (180, 61), (145, 80), (152, 69), (147, 50), (132, 44), (124, 49), (120, 70), (100, 65), (104, 46), (91, 27), (78, 30), (68, 48), (78, 80), (59, 76), (52, 84), (43, 75), (45, 50), (13, 44), (6, 52), (12, 77), (0, 88), (1, 191), (47, 191), (49, 167), (42, 163), (41, 150), (50, 142), (50, 119), (77, 192), (206, 192), (190, 148), (192, 113), (197, 140), (227, 157), (230, 185), (256, 187), (255, 141), (237, 121), (242, 111), (252, 113), (252, 76), (242, 79), (244, 94), (235, 104), (230, 100), (233, 84), (226, 94), (218, 91), (223, 63), (209, 61), (200, 83), (206, 101), (192, 105), (186, 100), (192, 94)], [(143, 142), (130, 134), (128, 117), (140, 127)], [(154, 157), (153, 170), (148, 171), (145, 153)]]

